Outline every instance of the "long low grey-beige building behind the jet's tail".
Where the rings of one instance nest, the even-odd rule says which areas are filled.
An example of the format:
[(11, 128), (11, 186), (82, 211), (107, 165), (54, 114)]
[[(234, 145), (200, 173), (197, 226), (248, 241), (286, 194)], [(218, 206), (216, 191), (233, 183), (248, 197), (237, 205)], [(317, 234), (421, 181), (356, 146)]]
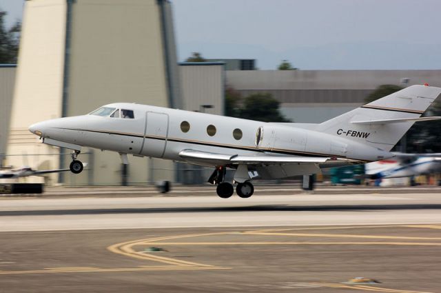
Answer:
[(251, 70), (227, 71), (227, 85), (243, 97), (269, 93), (285, 117), (320, 123), (353, 110), (379, 85), (441, 86), (441, 70)]

